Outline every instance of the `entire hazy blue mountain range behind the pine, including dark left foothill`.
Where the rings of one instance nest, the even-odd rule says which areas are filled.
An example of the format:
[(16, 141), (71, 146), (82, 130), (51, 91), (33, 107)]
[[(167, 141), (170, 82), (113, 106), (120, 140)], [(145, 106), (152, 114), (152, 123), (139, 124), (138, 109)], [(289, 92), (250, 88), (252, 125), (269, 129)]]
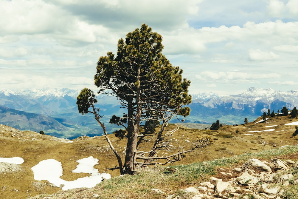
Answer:
[[(80, 135), (101, 135), (102, 131), (93, 115), (81, 115), (77, 111), (76, 97), (80, 90), (43, 89), (24, 91), (0, 91), (0, 124), (20, 130), (44, 130), (47, 134), (63, 138)], [(97, 95), (98, 107), (109, 132), (119, 128), (109, 125), (109, 118), (122, 115), (117, 99)], [(298, 105), (298, 91), (275, 91), (270, 88), (249, 88), (239, 95), (220, 96), (216, 93), (193, 95), (190, 116), (185, 122), (212, 124), (216, 120), (226, 124), (243, 124), (244, 118), (253, 121), (270, 108), (277, 112), (284, 106), (289, 110)], [(14, 110), (13, 110), (14, 109)], [(34, 113), (34, 114), (33, 114)], [(34, 119), (33, 119), (34, 118)], [(179, 118), (180, 120), (182, 118)], [(171, 123), (180, 122), (173, 119)]]

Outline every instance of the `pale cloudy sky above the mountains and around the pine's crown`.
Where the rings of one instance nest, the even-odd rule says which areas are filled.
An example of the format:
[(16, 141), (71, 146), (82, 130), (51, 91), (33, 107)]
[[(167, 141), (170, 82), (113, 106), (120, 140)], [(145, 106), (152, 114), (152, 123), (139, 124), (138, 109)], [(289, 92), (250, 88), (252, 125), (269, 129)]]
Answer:
[(298, 90), (297, 0), (0, 0), (0, 90), (93, 89), (98, 58), (142, 23), (190, 93)]

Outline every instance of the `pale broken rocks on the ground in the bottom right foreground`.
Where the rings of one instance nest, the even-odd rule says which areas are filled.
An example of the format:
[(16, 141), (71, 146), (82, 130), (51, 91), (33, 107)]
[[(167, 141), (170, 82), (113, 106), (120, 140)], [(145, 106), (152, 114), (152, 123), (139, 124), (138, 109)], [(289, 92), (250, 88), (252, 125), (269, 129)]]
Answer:
[[(211, 177), (198, 186), (181, 189), (188, 192), (192, 199), (281, 199), (285, 188), (298, 184), (294, 174), (298, 171), (298, 162), (271, 159), (260, 161), (250, 159), (242, 166), (227, 170), (219, 168), (222, 178)], [(161, 194), (161, 198), (178, 199), (175, 194), (166, 195), (160, 189), (152, 189)], [(163, 197), (162, 197), (163, 195)]]

